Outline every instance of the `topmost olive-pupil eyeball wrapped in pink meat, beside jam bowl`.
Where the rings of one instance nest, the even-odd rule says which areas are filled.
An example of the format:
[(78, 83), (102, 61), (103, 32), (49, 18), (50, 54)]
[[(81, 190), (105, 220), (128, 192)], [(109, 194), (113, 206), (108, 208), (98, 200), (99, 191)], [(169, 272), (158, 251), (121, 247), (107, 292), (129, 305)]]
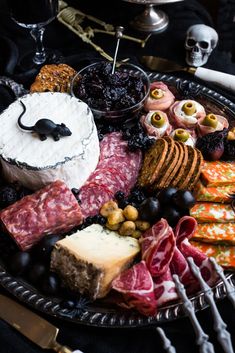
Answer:
[(150, 110), (167, 110), (175, 101), (175, 96), (163, 82), (152, 82), (150, 85), (150, 93), (147, 98), (144, 109), (146, 112)]

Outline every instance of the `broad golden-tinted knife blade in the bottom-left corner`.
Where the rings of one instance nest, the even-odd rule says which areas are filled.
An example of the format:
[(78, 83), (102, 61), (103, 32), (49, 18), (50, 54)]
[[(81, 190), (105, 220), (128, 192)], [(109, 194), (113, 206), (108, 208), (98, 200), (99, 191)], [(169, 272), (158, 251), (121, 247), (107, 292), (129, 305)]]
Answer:
[[(59, 333), (57, 327), (2, 294), (0, 294), (0, 318), (43, 349), (52, 349), (57, 353), (72, 353), (70, 348), (56, 341)], [(75, 350), (73, 353), (82, 352)]]

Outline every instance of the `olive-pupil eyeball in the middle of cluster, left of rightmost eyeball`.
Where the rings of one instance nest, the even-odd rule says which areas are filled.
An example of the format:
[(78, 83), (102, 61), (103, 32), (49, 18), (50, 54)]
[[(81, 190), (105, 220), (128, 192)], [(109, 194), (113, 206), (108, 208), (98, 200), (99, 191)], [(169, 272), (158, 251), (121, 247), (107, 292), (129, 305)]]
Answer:
[(169, 109), (169, 120), (174, 128), (195, 129), (198, 119), (205, 116), (204, 107), (194, 100), (176, 101)]

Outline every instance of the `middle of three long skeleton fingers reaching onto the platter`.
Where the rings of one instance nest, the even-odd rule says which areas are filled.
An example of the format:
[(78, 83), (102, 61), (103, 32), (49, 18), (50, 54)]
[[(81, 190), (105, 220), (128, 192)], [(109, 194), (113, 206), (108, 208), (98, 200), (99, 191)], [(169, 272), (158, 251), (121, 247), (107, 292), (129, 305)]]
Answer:
[(189, 257), (187, 260), (189, 262), (190, 268), (194, 276), (197, 278), (198, 282), (200, 283), (201, 289), (204, 292), (207, 303), (210, 305), (213, 318), (214, 318), (214, 330), (217, 333), (218, 341), (223, 347), (225, 353), (234, 353), (232, 342), (231, 342), (231, 335), (226, 330), (227, 325), (223, 321), (222, 317), (220, 316), (219, 310), (217, 309), (217, 306), (214, 301), (214, 294), (212, 289), (202, 278), (200, 269), (195, 265), (193, 258)]

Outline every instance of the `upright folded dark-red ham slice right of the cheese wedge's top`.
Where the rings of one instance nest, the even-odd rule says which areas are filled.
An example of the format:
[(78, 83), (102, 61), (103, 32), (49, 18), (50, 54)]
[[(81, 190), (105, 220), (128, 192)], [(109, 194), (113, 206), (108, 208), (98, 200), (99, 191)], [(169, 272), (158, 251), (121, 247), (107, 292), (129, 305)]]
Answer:
[(140, 239), (142, 259), (152, 276), (161, 276), (169, 267), (175, 250), (175, 236), (167, 221), (162, 218)]

